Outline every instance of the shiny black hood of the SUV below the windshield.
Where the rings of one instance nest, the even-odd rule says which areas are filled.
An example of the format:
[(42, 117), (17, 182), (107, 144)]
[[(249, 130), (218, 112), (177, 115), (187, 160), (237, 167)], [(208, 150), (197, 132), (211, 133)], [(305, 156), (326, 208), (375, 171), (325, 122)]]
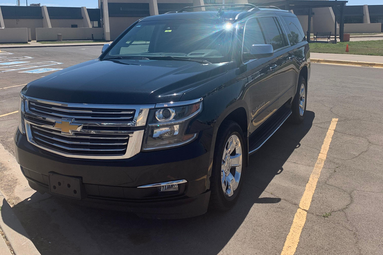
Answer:
[(227, 64), (169, 60), (91, 60), (29, 83), (29, 97), (85, 104), (177, 102), (227, 71)]

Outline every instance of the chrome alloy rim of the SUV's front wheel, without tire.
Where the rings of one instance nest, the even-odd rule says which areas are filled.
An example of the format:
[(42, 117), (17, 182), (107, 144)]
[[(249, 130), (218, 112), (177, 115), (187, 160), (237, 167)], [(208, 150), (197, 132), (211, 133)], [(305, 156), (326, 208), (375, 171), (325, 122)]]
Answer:
[(231, 197), (238, 188), (242, 171), (242, 147), (238, 136), (229, 137), (223, 150), (221, 185), (225, 196)]

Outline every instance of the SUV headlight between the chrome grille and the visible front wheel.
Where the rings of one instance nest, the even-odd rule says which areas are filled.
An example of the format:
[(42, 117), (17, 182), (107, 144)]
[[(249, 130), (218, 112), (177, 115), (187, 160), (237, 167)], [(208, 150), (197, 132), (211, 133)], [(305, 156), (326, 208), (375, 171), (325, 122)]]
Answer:
[[(184, 102), (183, 102), (184, 103)], [(186, 133), (190, 121), (202, 111), (202, 99), (192, 104), (162, 104), (149, 112), (143, 150), (176, 147), (191, 142), (197, 133)]]

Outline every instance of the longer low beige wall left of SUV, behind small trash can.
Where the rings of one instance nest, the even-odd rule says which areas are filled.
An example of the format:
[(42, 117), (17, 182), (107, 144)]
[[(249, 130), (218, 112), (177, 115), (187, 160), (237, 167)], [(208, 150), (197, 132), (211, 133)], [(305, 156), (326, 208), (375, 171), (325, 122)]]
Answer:
[(63, 40), (87, 40), (104, 38), (104, 29), (93, 28), (66, 28), (66, 27), (54, 27), (54, 28), (36, 28), (36, 40), (38, 41), (56, 41), (57, 34), (62, 34)]

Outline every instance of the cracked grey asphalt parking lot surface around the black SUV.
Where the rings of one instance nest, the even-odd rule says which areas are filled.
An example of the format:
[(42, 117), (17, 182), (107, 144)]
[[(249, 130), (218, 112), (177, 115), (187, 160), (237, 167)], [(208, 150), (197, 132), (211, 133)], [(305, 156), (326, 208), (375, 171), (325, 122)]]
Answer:
[[(101, 48), (3, 49), (13, 53), (7, 62), (29, 68), (2, 72), (17, 64), (0, 58), (0, 116), (17, 111), (18, 85), (54, 72), (24, 71), (69, 67), (97, 58)], [(17, 114), (0, 117), (0, 190), (42, 255), (278, 255), (338, 119), (295, 254), (382, 255), (382, 70), (312, 64), (304, 123), (285, 123), (250, 157), (242, 195), (227, 213), (147, 220), (33, 192), (11, 157)]]

